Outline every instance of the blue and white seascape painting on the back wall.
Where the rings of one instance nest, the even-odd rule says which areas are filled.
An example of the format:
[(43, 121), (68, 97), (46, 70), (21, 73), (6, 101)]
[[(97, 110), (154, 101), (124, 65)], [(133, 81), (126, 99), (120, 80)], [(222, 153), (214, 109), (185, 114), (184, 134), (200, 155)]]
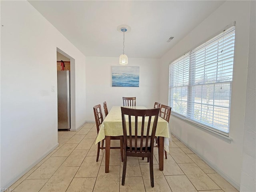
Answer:
[(112, 66), (112, 87), (138, 87), (140, 67)]

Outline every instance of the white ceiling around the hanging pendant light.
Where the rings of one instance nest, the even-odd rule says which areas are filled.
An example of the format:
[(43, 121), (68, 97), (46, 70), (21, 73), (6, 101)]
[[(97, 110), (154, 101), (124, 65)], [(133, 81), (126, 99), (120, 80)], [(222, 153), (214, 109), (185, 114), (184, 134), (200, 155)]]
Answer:
[[(29, 1), (85, 56), (161, 58), (224, 1)], [(173, 40), (167, 42), (170, 36)]]

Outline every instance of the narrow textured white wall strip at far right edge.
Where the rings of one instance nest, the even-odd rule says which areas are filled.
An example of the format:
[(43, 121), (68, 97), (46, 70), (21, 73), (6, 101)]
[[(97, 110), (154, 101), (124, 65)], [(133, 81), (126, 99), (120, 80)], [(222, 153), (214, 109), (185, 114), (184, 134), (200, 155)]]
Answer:
[[(244, 148), (240, 192), (256, 191), (256, 2), (251, 5)], [(254, 146), (254, 150), (252, 147)]]

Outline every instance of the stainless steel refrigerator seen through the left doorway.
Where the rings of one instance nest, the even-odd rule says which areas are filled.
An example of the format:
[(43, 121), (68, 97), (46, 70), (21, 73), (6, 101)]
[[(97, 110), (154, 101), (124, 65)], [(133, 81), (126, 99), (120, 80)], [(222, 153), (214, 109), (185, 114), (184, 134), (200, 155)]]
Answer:
[(57, 71), (58, 129), (70, 129), (70, 71)]

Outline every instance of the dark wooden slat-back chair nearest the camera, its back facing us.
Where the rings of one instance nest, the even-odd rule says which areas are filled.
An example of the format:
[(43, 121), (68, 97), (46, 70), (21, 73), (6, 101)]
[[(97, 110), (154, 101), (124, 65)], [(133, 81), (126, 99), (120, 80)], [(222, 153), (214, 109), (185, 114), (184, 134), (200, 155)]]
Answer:
[[(159, 110), (159, 108), (132, 109), (121, 107), (124, 134), (124, 165), (122, 185), (124, 185), (125, 182), (127, 156), (132, 156), (149, 158), (150, 184), (152, 187), (154, 187), (153, 151)], [(127, 119), (126, 115), (128, 115)], [(152, 118), (154, 118), (154, 122), (151, 126)], [(138, 121), (140, 122), (140, 120), (142, 121), (138, 124)], [(128, 128), (126, 127), (127, 125)], [(151, 127), (152, 131), (150, 131)]]

